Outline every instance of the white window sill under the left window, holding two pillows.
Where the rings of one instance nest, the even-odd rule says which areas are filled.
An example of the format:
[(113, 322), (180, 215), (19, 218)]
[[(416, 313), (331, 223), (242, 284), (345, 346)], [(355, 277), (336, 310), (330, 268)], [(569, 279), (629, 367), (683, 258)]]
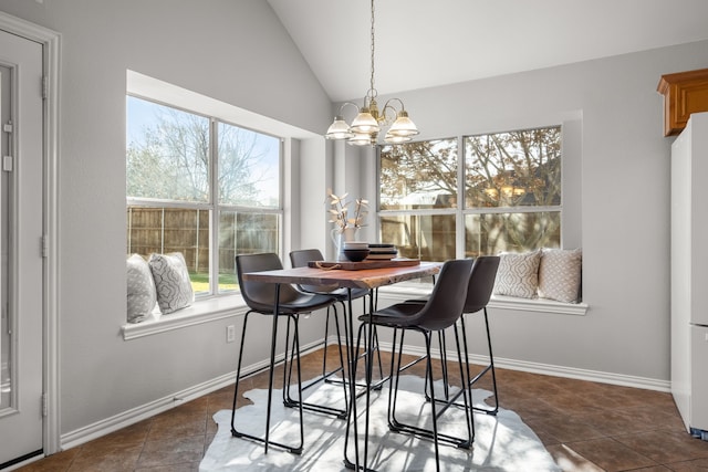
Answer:
[(142, 323), (127, 323), (123, 325), (123, 339), (131, 340), (144, 336), (152, 336), (173, 329), (228, 318), (233, 315), (244, 314), (248, 310), (240, 295), (219, 296), (196, 301), (191, 306), (162, 315), (155, 311), (153, 315)]

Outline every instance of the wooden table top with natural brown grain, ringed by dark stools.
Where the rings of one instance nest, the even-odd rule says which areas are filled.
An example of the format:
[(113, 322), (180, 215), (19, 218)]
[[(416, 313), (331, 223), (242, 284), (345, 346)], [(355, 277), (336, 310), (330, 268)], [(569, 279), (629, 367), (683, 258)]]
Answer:
[(364, 269), (361, 271), (294, 268), (279, 271), (247, 272), (243, 274), (243, 280), (302, 285), (336, 284), (346, 289), (376, 289), (413, 279), (435, 275), (440, 272), (441, 266), (442, 263), (440, 262), (421, 262), (418, 265)]

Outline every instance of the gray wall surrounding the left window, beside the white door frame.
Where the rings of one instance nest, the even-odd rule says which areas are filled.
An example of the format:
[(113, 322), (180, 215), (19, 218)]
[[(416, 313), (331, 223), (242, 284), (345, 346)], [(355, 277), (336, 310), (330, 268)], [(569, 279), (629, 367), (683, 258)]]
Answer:
[(280, 21), (264, 1), (2, 0), (0, 10), (62, 34), (62, 433), (235, 370), (238, 344), (225, 333), (228, 324), (240, 329), (240, 317), (131, 342), (121, 335), (126, 70), (326, 128), (331, 103)]

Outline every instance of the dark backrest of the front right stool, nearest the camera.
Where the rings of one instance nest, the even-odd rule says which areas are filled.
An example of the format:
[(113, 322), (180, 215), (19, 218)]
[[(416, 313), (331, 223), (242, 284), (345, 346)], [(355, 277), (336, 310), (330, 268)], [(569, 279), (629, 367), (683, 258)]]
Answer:
[(416, 325), (430, 331), (452, 326), (462, 315), (467, 286), (475, 261), (456, 259), (446, 261), (437, 276), (433, 292), (416, 316)]

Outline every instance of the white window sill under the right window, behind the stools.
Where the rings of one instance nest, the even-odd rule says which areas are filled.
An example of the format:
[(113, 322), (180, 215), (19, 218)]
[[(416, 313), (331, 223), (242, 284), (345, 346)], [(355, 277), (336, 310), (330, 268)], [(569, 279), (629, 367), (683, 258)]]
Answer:
[[(424, 283), (399, 283), (379, 289), (379, 295), (404, 302), (419, 298), (430, 293), (430, 285)], [(520, 298), (517, 296), (492, 295), (489, 308), (516, 310), (521, 312), (558, 313), (584, 316), (590, 307), (586, 303), (564, 303), (545, 298)]]

